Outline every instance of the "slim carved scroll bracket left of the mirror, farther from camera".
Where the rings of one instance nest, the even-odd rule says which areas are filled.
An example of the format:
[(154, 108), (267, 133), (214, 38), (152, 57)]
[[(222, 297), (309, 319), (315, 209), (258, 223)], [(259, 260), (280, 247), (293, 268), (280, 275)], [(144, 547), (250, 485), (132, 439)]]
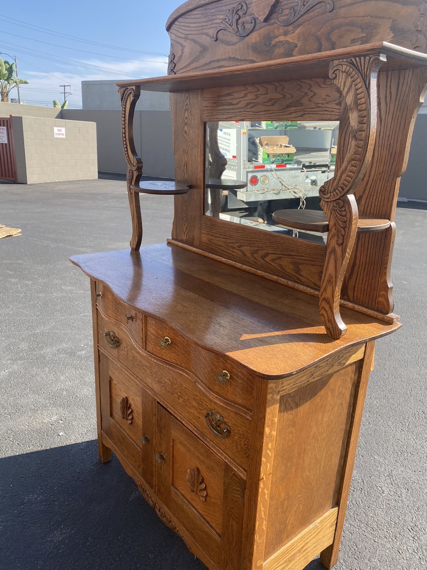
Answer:
[(126, 182), (128, 184), (129, 207), (132, 217), (132, 239), (130, 240), (130, 247), (133, 250), (139, 250), (142, 241), (141, 207), (139, 206), (139, 194), (134, 193), (130, 186), (138, 186), (142, 176), (143, 164), (137, 154), (133, 140), (133, 116), (139, 95), (141, 95), (141, 87), (120, 87), (118, 92), (120, 93), (122, 103), (122, 143), (125, 159), (128, 164)]

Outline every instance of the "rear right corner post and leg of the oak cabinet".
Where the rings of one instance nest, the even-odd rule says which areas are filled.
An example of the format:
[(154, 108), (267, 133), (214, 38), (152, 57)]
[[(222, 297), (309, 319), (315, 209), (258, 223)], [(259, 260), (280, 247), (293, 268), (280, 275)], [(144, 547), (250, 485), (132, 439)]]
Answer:
[(332, 568), (338, 560), (339, 547), (343, 534), (344, 519), (346, 518), (348, 495), (350, 494), (351, 477), (353, 474), (354, 460), (359, 440), (360, 422), (362, 421), (363, 406), (365, 403), (368, 378), (371, 372), (375, 340), (367, 343), (363, 364), (359, 371), (359, 384), (356, 388), (353, 413), (350, 429), (348, 430), (347, 452), (344, 459), (342, 483), (338, 503), (338, 520), (332, 544), (322, 551), (320, 561), (326, 568)]

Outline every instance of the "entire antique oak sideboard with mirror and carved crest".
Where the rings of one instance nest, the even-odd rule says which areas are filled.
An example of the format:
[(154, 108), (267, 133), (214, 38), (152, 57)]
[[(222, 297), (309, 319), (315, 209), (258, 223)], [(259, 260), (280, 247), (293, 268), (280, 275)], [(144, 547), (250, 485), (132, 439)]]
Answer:
[[(118, 83), (130, 250), (71, 258), (91, 279), (99, 457), (210, 570), (338, 558), (375, 340), (400, 327), (423, 6), (188, 0), (168, 75)], [(141, 89), (170, 92), (174, 182), (142, 179)], [(326, 163), (307, 158), (303, 137), (338, 124)], [(140, 247), (140, 193), (174, 196), (167, 243)]]

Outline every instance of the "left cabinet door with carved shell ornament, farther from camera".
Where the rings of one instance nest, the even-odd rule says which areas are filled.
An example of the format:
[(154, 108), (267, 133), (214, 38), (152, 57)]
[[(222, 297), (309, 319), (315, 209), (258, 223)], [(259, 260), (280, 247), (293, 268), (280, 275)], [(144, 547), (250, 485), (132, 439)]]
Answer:
[(154, 486), (155, 400), (142, 382), (100, 353), (101, 428), (150, 488)]

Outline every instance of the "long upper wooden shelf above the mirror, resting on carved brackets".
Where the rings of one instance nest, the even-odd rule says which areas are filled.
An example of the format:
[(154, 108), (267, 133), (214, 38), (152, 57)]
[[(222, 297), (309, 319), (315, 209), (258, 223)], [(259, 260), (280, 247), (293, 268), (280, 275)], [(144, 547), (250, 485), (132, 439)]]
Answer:
[(381, 71), (427, 67), (427, 55), (395, 46), (387, 42), (323, 51), (318, 54), (298, 55), (269, 62), (223, 67), (211, 71), (197, 71), (148, 79), (132, 79), (116, 83), (118, 87), (139, 85), (143, 91), (191, 91), (212, 87), (233, 87), (257, 82), (277, 82), (329, 77), (329, 64), (341, 58), (384, 54), (387, 62)]

